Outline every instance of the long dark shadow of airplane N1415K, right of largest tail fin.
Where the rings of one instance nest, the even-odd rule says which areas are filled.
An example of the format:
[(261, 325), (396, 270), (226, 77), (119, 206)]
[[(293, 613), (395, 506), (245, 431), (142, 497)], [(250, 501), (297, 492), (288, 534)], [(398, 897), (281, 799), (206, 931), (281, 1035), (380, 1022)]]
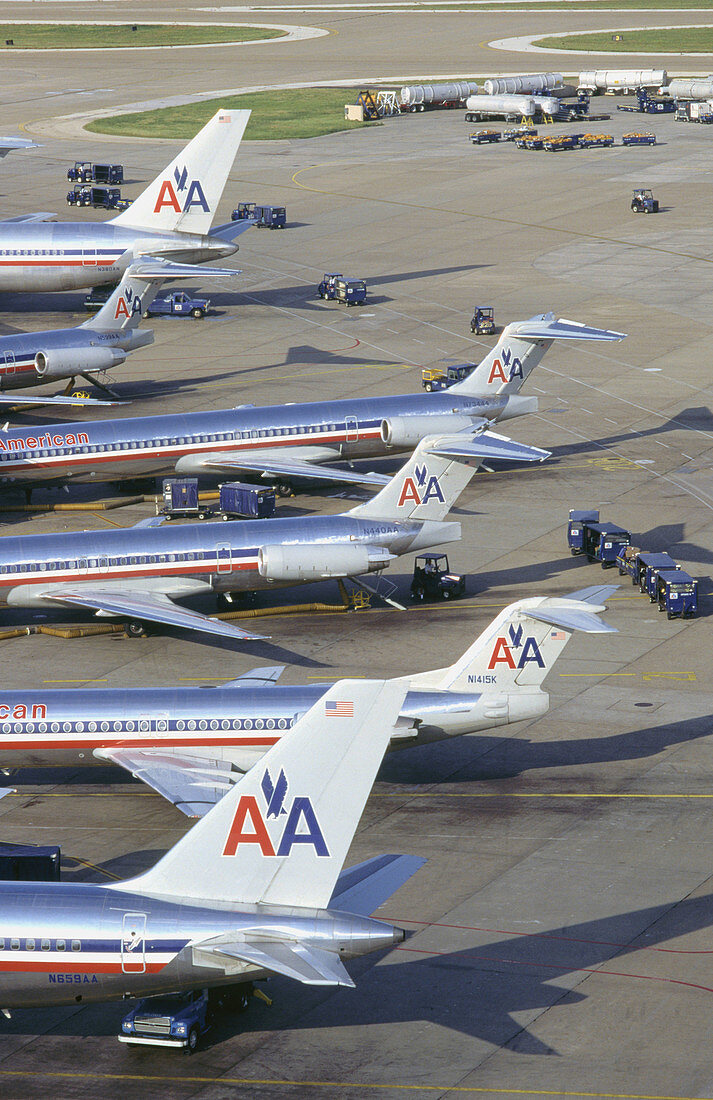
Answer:
[[(650, 759), (674, 745), (710, 737), (713, 715), (685, 718), (605, 737), (528, 739), (469, 734), (390, 752), (379, 772), (385, 783), (500, 783), (539, 769), (593, 768), (621, 760)], [(428, 732), (425, 730), (425, 736)], [(578, 782), (574, 777), (572, 784)], [(507, 792), (503, 792), (507, 798)]]

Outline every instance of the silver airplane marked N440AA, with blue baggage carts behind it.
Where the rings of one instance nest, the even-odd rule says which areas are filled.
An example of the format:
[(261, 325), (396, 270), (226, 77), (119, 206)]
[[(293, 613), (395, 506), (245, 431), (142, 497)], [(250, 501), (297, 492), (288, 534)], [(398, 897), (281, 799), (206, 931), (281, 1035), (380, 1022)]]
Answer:
[[(47, 438), (54, 446), (63, 442)], [(484, 458), (542, 462), (549, 451), (493, 432), (432, 436), (371, 501), (340, 515), (169, 527), (153, 526), (154, 517), (152, 526), (142, 520), (120, 530), (7, 536), (0, 539), (0, 596), (12, 607), (130, 616), (130, 636), (143, 634), (151, 622), (233, 639), (263, 638), (173, 601), (354, 579), (381, 572), (404, 553), (452, 542), (461, 527), (446, 516)]]

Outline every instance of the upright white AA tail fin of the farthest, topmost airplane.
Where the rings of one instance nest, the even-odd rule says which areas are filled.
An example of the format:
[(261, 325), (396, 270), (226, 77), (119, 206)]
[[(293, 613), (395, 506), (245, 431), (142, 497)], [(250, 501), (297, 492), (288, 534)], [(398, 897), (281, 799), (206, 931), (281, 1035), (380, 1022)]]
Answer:
[(112, 224), (207, 233), (249, 118), (250, 111), (218, 111)]

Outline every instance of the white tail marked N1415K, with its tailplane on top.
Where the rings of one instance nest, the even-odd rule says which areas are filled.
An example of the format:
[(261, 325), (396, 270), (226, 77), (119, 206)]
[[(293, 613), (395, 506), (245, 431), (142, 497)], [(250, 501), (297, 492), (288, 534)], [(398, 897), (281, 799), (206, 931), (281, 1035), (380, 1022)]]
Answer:
[(447, 669), (404, 676), (412, 691), (531, 691), (539, 686), (573, 630), (605, 634), (603, 604), (535, 596), (509, 604)]

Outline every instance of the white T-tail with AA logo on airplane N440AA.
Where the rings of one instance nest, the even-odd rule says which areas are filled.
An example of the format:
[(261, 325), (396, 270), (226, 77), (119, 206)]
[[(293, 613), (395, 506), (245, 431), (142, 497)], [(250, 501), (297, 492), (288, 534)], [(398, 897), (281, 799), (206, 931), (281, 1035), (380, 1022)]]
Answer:
[(445, 519), (484, 459), (542, 462), (549, 451), (482, 431), (427, 436), (392, 480), (349, 515), (380, 519)]

